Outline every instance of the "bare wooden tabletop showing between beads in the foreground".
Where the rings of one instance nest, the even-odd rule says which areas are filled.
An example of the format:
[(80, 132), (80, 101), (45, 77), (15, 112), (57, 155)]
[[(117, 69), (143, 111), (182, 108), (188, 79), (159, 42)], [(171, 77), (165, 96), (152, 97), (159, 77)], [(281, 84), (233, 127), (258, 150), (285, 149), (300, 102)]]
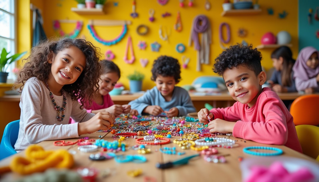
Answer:
[[(111, 133), (103, 133), (103, 132), (95, 132), (91, 134), (81, 135), (80, 138), (84, 136), (90, 137), (90, 139), (99, 139), (99, 135), (102, 135), (103, 139), (108, 141), (114, 141), (111, 137)], [(142, 136), (138, 136), (141, 138)], [(198, 151), (194, 151), (191, 149), (183, 150), (186, 152), (185, 155), (167, 155), (163, 154), (159, 151), (161, 147), (176, 147), (177, 151), (182, 151), (178, 147), (178, 145), (173, 143), (174, 139), (179, 139), (180, 137), (172, 137), (171, 142), (169, 144), (163, 146), (150, 146), (146, 145), (146, 148), (151, 149), (150, 154), (145, 154), (147, 158), (146, 163), (117, 163), (114, 159), (107, 159), (104, 161), (92, 161), (89, 159), (89, 155), (92, 153), (83, 153), (78, 150), (78, 145), (71, 145), (71, 146), (54, 146), (54, 141), (44, 141), (40, 142), (38, 145), (41, 145), (45, 150), (55, 150), (55, 149), (66, 149), (69, 151), (76, 151), (74, 154), (75, 164), (72, 169), (76, 169), (78, 167), (94, 167), (100, 171), (98, 175), (98, 179), (96, 181), (145, 181), (145, 177), (151, 177), (155, 179), (157, 182), (168, 182), (168, 181), (241, 181), (241, 168), (240, 168), (240, 161), (238, 160), (239, 157), (242, 157), (243, 160), (248, 158), (258, 158), (258, 156), (252, 156), (243, 152), (243, 148), (247, 146), (269, 146), (269, 147), (277, 147), (283, 150), (283, 155), (286, 157), (297, 157), (299, 159), (304, 159), (307, 161), (311, 161), (316, 163), (313, 158), (310, 158), (304, 154), (301, 154), (293, 149), (287, 148), (286, 146), (282, 145), (266, 145), (261, 143), (256, 143), (253, 141), (246, 141), (241, 138), (234, 138), (230, 136), (231, 139), (236, 139), (237, 142), (235, 146), (231, 149), (226, 148), (216, 148), (218, 150), (218, 155), (226, 155), (226, 163), (212, 163), (207, 162), (203, 159), (203, 157), (194, 157), (189, 161), (189, 164), (182, 165), (179, 167), (174, 167), (170, 169), (161, 170), (155, 167), (156, 163), (166, 163), (168, 161), (175, 161), (177, 159), (181, 159), (183, 157), (187, 157), (193, 154), (199, 153)], [(118, 139), (118, 138), (117, 138)], [(78, 138), (75, 139), (67, 139), (65, 141), (77, 141)], [(137, 154), (137, 150), (129, 149), (129, 147), (136, 145), (136, 141), (133, 138), (126, 138), (123, 143), (125, 143), (128, 147), (126, 147), (125, 152), (118, 152), (117, 154), (130, 154), (135, 155)], [(100, 150), (99, 150), (100, 151)], [(267, 152), (267, 151), (266, 151)], [(93, 154), (98, 152), (93, 152)], [(24, 151), (18, 154), (19, 156), (25, 156)], [(10, 161), (13, 156), (7, 157), (0, 161), (0, 166), (6, 166), (10, 164)], [(318, 164), (318, 163), (316, 163)], [(319, 164), (318, 164), (319, 165)], [(102, 177), (102, 173), (104, 170), (111, 170), (112, 173), (108, 177)], [(142, 169), (142, 175), (138, 177), (130, 177), (127, 175), (127, 171)], [(16, 173), (6, 173), (0, 178), (1, 181), (8, 180), (8, 179), (17, 179), (21, 178), (22, 176)], [(151, 181), (151, 180), (149, 180)]]

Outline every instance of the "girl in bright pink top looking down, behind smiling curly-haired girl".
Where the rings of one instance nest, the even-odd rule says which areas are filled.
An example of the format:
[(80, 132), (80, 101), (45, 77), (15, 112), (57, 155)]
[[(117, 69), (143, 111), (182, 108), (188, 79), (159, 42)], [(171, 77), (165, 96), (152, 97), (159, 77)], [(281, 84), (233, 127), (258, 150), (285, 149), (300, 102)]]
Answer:
[[(84, 102), (84, 108), (88, 113), (109, 112), (116, 116), (124, 113), (130, 113), (137, 115), (137, 110), (132, 109), (130, 105), (115, 105), (112, 101), (110, 91), (114, 89), (115, 84), (121, 77), (119, 67), (112, 61), (102, 60), (100, 63), (100, 81), (99, 90), (93, 94), (92, 104), (89, 104), (89, 100)], [(71, 121), (74, 123), (74, 120)]]

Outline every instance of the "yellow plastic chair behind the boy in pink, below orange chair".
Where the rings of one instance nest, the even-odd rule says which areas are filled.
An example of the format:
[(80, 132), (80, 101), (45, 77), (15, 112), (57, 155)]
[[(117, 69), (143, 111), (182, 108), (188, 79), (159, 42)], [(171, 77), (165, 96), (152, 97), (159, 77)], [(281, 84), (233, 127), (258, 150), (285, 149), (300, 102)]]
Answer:
[(319, 127), (313, 125), (296, 126), (302, 152), (319, 161)]

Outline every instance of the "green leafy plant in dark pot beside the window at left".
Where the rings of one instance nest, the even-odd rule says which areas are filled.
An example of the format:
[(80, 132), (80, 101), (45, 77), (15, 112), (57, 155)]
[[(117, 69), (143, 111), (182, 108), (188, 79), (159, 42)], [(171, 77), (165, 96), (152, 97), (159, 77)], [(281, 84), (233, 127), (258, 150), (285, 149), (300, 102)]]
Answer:
[(26, 54), (26, 52), (27, 51), (23, 53), (17, 53), (15, 55), (7, 57), (10, 54), (10, 52), (7, 52), (5, 48), (2, 49), (2, 52), (0, 55), (0, 82), (1, 83), (7, 83), (7, 77), (9, 73), (5, 71), (8, 69), (9, 64), (11, 64), (12, 62), (18, 61), (22, 56)]

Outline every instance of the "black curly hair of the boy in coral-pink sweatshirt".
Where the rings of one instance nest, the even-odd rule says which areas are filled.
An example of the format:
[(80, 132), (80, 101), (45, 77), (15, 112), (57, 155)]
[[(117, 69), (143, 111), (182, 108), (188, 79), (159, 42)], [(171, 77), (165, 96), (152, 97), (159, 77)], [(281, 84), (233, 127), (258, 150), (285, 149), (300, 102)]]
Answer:
[(212, 70), (223, 75), (226, 69), (232, 69), (239, 65), (246, 66), (248, 69), (255, 72), (256, 76), (262, 71), (261, 61), (262, 55), (257, 48), (236, 44), (224, 50), (216, 59)]

